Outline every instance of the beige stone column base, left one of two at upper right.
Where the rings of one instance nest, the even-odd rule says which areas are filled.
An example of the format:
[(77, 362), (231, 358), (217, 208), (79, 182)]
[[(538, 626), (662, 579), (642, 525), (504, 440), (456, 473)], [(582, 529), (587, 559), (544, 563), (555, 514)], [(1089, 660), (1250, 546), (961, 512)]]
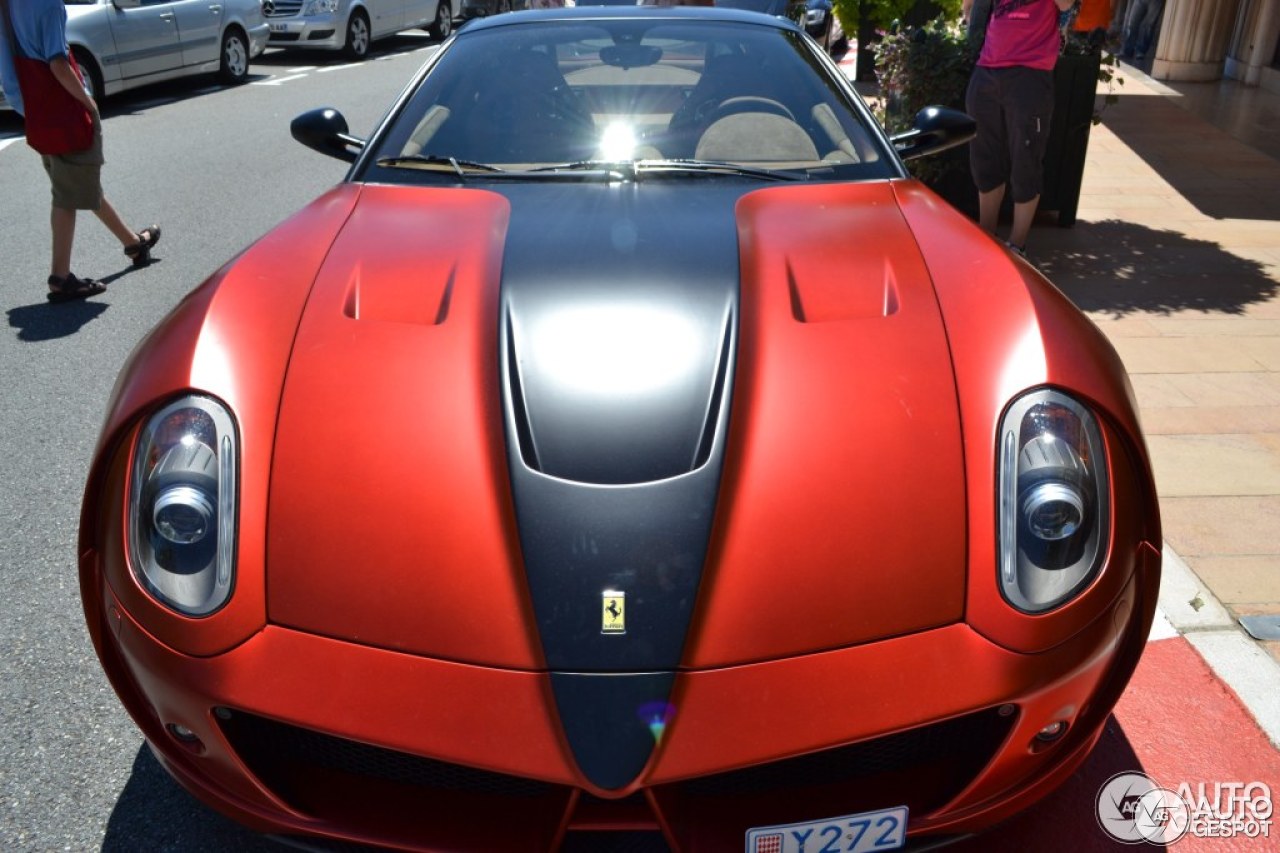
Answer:
[(1239, 0), (1166, 0), (1151, 76), (1220, 79), (1239, 6)]

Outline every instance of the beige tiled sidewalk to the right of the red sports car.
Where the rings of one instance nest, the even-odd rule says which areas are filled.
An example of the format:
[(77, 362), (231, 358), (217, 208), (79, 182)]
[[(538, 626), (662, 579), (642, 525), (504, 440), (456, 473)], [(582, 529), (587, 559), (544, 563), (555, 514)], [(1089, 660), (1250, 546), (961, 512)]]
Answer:
[(1129, 369), (1166, 543), (1230, 616), (1280, 615), (1280, 95), (1121, 76), (1079, 220), (1029, 251)]

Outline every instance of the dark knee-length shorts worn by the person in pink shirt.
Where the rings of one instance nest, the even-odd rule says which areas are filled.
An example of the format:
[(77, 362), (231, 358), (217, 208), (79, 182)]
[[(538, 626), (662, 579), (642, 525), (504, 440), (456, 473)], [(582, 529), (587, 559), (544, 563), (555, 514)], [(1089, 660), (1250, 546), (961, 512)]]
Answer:
[(978, 123), (969, 168), (978, 192), (1009, 183), (1015, 202), (1041, 193), (1053, 72), (1038, 68), (975, 68), (965, 110)]

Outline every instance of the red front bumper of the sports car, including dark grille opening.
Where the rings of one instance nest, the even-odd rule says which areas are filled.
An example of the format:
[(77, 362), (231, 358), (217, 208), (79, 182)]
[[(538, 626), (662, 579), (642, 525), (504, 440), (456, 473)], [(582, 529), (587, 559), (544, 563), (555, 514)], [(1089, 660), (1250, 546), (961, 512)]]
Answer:
[[(648, 830), (676, 849), (719, 849), (750, 826), (908, 803), (919, 840), (1004, 820), (1084, 760), (1149, 628), (1160, 556), (1143, 544), (1133, 565), (1110, 606), (1038, 654), (957, 624), (681, 672), (654, 758), (618, 792), (577, 771), (544, 672), (274, 625), (189, 657), (105, 583), (91, 612), (106, 671), (165, 766), (260, 830), (486, 850)], [(1057, 721), (1062, 738), (1037, 739)]]

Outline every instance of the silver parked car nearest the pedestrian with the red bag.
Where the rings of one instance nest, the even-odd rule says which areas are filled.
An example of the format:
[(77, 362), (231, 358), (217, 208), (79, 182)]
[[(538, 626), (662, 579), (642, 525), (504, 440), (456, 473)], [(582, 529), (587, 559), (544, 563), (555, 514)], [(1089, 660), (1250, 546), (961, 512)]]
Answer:
[(241, 83), (266, 35), (261, 0), (67, 0), (67, 44), (95, 99), (188, 74)]

